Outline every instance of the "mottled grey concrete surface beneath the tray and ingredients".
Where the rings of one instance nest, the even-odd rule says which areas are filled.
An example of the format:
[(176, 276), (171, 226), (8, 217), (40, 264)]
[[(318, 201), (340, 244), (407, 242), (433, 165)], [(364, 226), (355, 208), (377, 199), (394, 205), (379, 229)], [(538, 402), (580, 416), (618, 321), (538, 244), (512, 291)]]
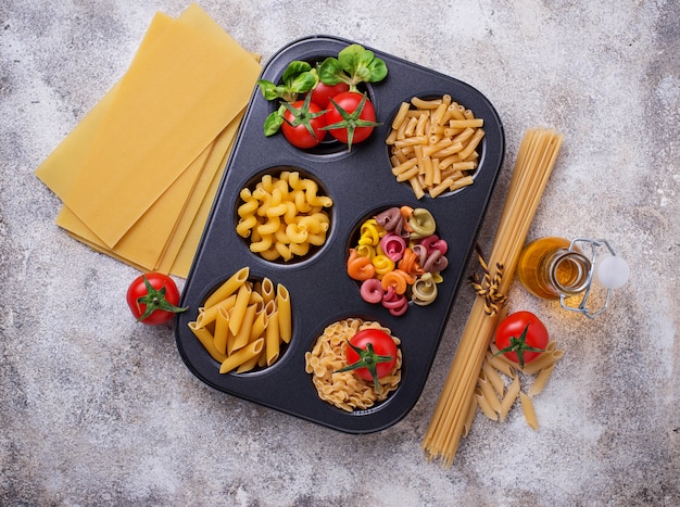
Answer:
[[(266, 60), (347, 37), (465, 80), (496, 106), (506, 163), (524, 131), (565, 145), (530, 231), (607, 238), (632, 267), (588, 320), (515, 284), (565, 350), (537, 400), (478, 416), (451, 469), (420, 442), (473, 301), (462, 290), (428, 382), (394, 427), (348, 435), (198, 381), (169, 328), (136, 325), (137, 272), (54, 226), (34, 175), (125, 72), (153, 13), (179, 1), (0, 4), (0, 505), (680, 505), (680, 4), (670, 0), (201, 5)], [(181, 286), (182, 280), (178, 280)]]

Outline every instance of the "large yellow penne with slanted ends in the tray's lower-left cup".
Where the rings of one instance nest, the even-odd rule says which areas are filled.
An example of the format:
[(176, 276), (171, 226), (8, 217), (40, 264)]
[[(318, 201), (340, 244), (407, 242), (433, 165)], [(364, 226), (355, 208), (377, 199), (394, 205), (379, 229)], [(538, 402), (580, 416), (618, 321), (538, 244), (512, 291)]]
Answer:
[(249, 280), (243, 267), (199, 308), (189, 329), (221, 364), (219, 372), (242, 373), (272, 366), (292, 334), (290, 294), (264, 278)]

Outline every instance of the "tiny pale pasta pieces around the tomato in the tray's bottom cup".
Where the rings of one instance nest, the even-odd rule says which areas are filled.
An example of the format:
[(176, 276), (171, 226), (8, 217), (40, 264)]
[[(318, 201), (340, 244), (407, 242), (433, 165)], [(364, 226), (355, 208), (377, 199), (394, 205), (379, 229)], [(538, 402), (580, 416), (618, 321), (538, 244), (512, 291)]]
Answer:
[[(392, 337), (398, 345), (398, 357), (391, 375), (379, 379), (380, 393), (373, 381), (361, 379), (352, 371), (336, 372), (348, 366), (345, 346), (348, 340), (363, 329), (380, 329)], [(383, 401), (394, 391), (401, 380), (402, 355), (399, 338), (378, 322), (349, 318), (333, 322), (324, 329), (311, 351), (304, 355), (305, 371), (312, 375), (312, 382), (318, 396), (325, 402), (345, 411), (365, 409)]]

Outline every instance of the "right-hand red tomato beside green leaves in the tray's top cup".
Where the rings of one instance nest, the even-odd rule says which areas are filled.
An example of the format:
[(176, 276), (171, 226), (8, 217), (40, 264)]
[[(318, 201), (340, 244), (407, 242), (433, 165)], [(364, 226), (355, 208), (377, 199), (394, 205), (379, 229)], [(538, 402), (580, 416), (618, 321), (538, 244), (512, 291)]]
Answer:
[(376, 110), (368, 97), (357, 91), (345, 91), (330, 99), (326, 124), (330, 135), (350, 148), (364, 141), (380, 125), (376, 123)]

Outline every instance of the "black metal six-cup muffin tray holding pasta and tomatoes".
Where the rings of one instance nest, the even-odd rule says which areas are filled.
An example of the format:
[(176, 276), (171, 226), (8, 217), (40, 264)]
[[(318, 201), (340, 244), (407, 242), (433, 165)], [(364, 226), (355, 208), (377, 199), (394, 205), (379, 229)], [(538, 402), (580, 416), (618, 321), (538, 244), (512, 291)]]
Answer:
[[(335, 56), (353, 43), (329, 36), (313, 36), (284, 47), (264, 66), (262, 78), (279, 83), (292, 60), (310, 62)], [(366, 47), (366, 46), (364, 46)], [(367, 48), (367, 47), (366, 47)], [(455, 78), (382, 53), (376, 56), (388, 67), (388, 76), (367, 91), (383, 124), (372, 137), (347, 147), (322, 145), (304, 152), (290, 145), (282, 135), (265, 138), (265, 117), (277, 106), (253, 90), (237, 136), (211, 215), (182, 290), (181, 305), (189, 309), (176, 318), (176, 342), (187, 367), (212, 388), (264, 406), (291, 414), (348, 433), (369, 433), (401, 420), (415, 405), (439, 347), (464, 269), (503, 163), (505, 137), (492, 104), (478, 90)], [(225, 91), (228, 93), (228, 91)], [(480, 164), (474, 185), (436, 199), (417, 200), (410, 186), (391, 174), (386, 138), (402, 101), (413, 97), (433, 98), (444, 93), (484, 121)], [(263, 174), (294, 168), (314, 178), (333, 200), (331, 227), (326, 244), (304, 259), (272, 263), (250, 252), (236, 232), (236, 207), (243, 187)], [(358, 225), (391, 206), (425, 207), (437, 221), (438, 235), (449, 243), (449, 266), (442, 271), (438, 297), (429, 306), (411, 305), (394, 317), (381, 305), (365, 303), (357, 283), (345, 271), (348, 249), (356, 239)], [(224, 280), (242, 267), (253, 279), (268, 277), (290, 292), (293, 337), (278, 362), (249, 373), (219, 373), (219, 364), (203, 348), (188, 328), (198, 307)], [(305, 372), (304, 354), (324, 328), (337, 320), (357, 317), (379, 321), (402, 341), (402, 379), (387, 401), (366, 410), (347, 413), (322, 401)]]

